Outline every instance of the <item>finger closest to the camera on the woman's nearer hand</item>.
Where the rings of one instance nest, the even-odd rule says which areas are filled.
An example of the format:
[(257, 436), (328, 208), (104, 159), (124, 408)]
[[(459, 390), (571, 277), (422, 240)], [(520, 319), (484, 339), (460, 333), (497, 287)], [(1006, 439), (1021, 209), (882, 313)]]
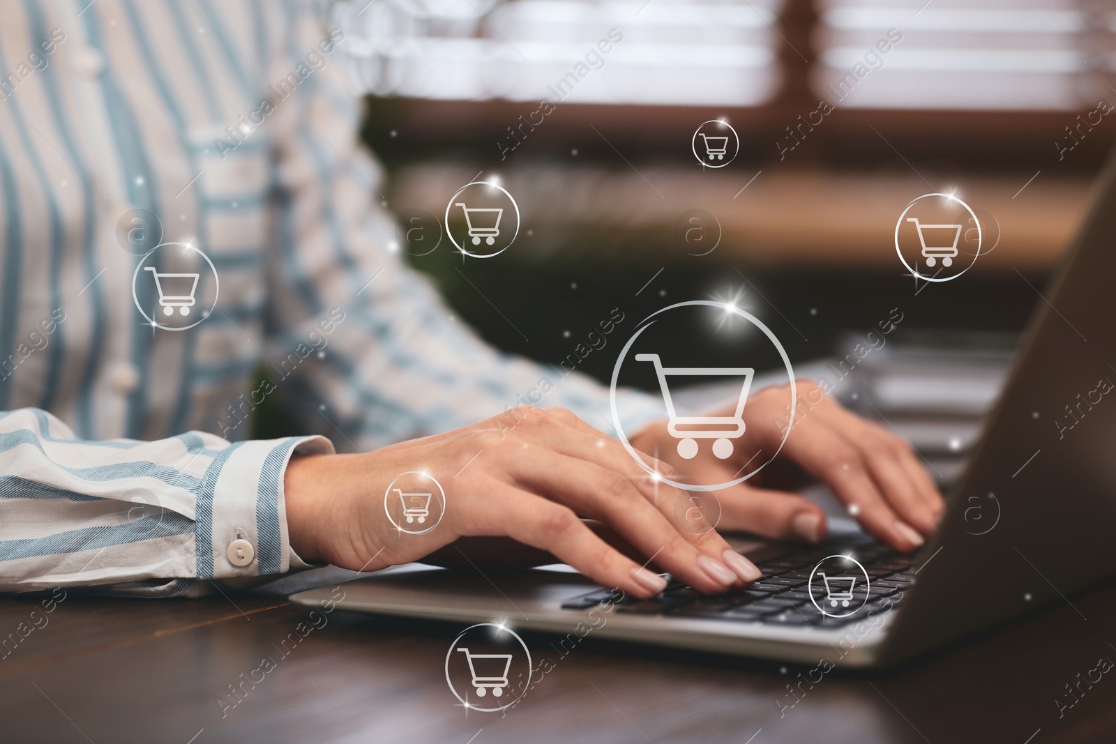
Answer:
[(472, 510), (466, 534), (499, 534), (554, 553), (605, 587), (636, 597), (654, 597), (666, 580), (643, 568), (593, 533), (568, 506), (528, 493), (494, 477), (478, 480), (485, 499)]

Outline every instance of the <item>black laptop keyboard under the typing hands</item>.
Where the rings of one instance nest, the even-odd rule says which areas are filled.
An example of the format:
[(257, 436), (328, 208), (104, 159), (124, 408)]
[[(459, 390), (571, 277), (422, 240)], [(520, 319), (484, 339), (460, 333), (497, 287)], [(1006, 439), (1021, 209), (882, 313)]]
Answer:
[[(817, 578), (812, 584), (814, 600), (810, 598), (810, 572), (818, 562), (835, 554), (852, 554), (869, 579), (867, 590), (863, 583), (853, 588), (849, 606), (859, 609), (848, 617), (831, 617), (847, 611), (840, 608), (840, 611), (830, 610), (830, 615), (818, 609), (825, 605), (827, 597), (825, 586)], [(758, 561), (756, 566), (763, 576), (743, 589), (733, 589), (724, 595), (704, 595), (680, 581), (670, 581), (661, 595), (651, 599), (626, 597), (617, 601), (618, 593), (602, 589), (566, 602), (562, 609), (585, 610), (613, 600), (618, 612), (632, 615), (833, 628), (859, 622), (894, 607), (914, 583), (918, 564), (917, 554), (903, 555), (857, 535), (831, 540), (820, 547), (791, 549)], [(670, 577), (665, 578), (670, 580)], [(864, 601), (865, 595), (867, 601)]]

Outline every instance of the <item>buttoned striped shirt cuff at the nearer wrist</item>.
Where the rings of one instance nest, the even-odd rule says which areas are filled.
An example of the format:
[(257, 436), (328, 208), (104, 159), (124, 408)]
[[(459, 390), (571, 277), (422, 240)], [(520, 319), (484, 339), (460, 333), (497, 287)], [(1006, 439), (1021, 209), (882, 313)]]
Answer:
[(290, 549), (283, 474), (295, 453), (333, 452), (323, 436), (239, 442), (221, 452), (198, 499), (198, 578), (267, 576), (309, 566)]

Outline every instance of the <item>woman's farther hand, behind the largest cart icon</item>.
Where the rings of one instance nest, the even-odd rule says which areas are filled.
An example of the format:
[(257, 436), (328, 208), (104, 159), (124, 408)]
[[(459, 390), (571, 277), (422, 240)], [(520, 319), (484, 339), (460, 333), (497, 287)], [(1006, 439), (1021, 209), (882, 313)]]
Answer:
[[(788, 457), (837, 494), (866, 531), (899, 551), (912, 551), (937, 523), (944, 508), (934, 482), (917, 455), (898, 436), (846, 410), (811, 380), (797, 380), (799, 405), (780, 457)], [(820, 398), (820, 403), (812, 400)], [(631, 439), (642, 452), (674, 465), (680, 483), (713, 485), (756, 470), (779, 448), (787, 426), (789, 386), (769, 387), (752, 395), (744, 407), (747, 429), (733, 439), (732, 455), (715, 457), (710, 439), (693, 460), (677, 454), (677, 438), (666, 422), (647, 427)], [(713, 415), (731, 416), (734, 410)], [(818, 542), (826, 535), (821, 509), (797, 493), (760, 487), (770, 485), (770, 467), (740, 485), (718, 491), (718, 526), (747, 530), (768, 538)]]

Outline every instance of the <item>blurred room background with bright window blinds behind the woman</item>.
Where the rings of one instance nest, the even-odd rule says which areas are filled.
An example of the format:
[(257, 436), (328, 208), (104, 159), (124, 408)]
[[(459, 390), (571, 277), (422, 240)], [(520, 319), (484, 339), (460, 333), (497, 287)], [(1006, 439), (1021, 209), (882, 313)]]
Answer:
[[(411, 262), (494, 345), (554, 364), (614, 308), (627, 338), (671, 302), (734, 301), (796, 365), (841, 354), (898, 308), (896, 342), (865, 377), (903, 347), (941, 381), (952, 373), (916, 351), (946, 349), (994, 390), (1116, 133), (1116, 9), (1101, 0), (341, 0), (329, 12), (388, 205), (404, 231), (422, 228)], [(739, 135), (723, 167), (692, 151), (709, 120)], [(463, 261), (444, 238), (431, 250), (434, 215), (478, 178), (517, 200), (514, 245), (493, 260)], [(905, 205), (933, 192), (971, 205), (983, 242), (963, 278), (926, 284), (893, 241)], [(590, 354), (579, 369), (607, 378), (614, 360)], [(949, 405), (979, 413), (988, 390)]]

